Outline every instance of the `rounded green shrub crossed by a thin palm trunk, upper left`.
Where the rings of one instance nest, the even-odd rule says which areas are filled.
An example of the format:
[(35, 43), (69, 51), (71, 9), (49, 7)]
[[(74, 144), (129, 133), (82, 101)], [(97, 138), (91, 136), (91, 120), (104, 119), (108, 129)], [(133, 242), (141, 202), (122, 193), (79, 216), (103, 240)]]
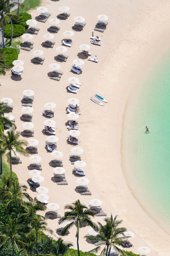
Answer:
[[(23, 35), (26, 32), (26, 29), (22, 25), (13, 25), (13, 36), (12, 38)], [(4, 27), (4, 37), (11, 37), (11, 24), (8, 24)]]

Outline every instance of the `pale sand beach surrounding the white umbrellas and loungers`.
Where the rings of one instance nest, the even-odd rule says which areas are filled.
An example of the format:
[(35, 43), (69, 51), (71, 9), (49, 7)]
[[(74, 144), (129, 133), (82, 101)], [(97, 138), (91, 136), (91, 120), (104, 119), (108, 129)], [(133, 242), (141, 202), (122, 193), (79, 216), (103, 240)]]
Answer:
[[(89, 1), (50, 1), (43, 0), (42, 6), (48, 8), (51, 13), (49, 19), (56, 18), (60, 13), (60, 6), (70, 7), (70, 17), (67, 20), (61, 20), (58, 24), (61, 29), (54, 34), (55, 45), (53, 49), (42, 47), (44, 42), (43, 35), (48, 33), (47, 28), (51, 24), (38, 22), (36, 27), (40, 28), (38, 35), (34, 35), (33, 50), (26, 52), (20, 51), (19, 60), (23, 60), (24, 71), (20, 79), (12, 76), (8, 71), (6, 76), (1, 76), (1, 99), (10, 97), (13, 99), (14, 106), (12, 115), (15, 117), (15, 124), (18, 131), (23, 131), (23, 121), (21, 100), (22, 92), (26, 89), (33, 90), (33, 124), (34, 138), (39, 140), (38, 155), (41, 156), (42, 172), (44, 181), (41, 186), (47, 187), (48, 203), (57, 203), (60, 205), (58, 213), (63, 216), (64, 206), (80, 199), (83, 204), (88, 205), (93, 198), (99, 198), (102, 201), (102, 210), (110, 216), (118, 215), (122, 219), (122, 226), (135, 233), (135, 238), (130, 239), (134, 247), (128, 250), (138, 253), (137, 249), (141, 246), (151, 248), (149, 256), (169, 256), (170, 236), (166, 234), (140, 207), (136, 199), (132, 196), (123, 171), (126, 172), (126, 163), (121, 162), (121, 149), (123, 141), (121, 140), (122, 119), (129, 94), (133, 93), (133, 87), (137, 87), (139, 82), (149, 73), (152, 66), (159, 61), (163, 54), (169, 50), (169, 11), (170, 4), (166, 0), (129, 0), (129, 1), (111, 1), (100, 2), (97, 0)], [(38, 12), (30, 12), (32, 19), (38, 16)], [(95, 24), (100, 14), (106, 14), (108, 19), (107, 29), (103, 32), (94, 31)], [(63, 32), (72, 30), (74, 17), (82, 16), (85, 18), (86, 25), (81, 32), (74, 31), (71, 37), (73, 44), (67, 47), (68, 60), (66, 62), (56, 62), (54, 57), (58, 54), (55, 49), (61, 45), (64, 38)], [(90, 44), (90, 36), (101, 37), (101, 46)], [(24, 40), (23, 40), (24, 41)], [(81, 50), (80, 44), (90, 44), (92, 58), (96, 55), (98, 63), (88, 61)], [(42, 50), (45, 58), (43, 65), (31, 63), (33, 59), (32, 52)], [(70, 72), (72, 61), (74, 59), (84, 59), (82, 74), (75, 75)], [(60, 70), (63, 71), (61, 80), (54, 81), (49, 79), (49, 65), (59, 63)], [(81, 82), (81, 87), (77, 94), (67, 92), (69, 85), (67, 79), (76, 76)], [(108, 100), (104, 106), (99, 106), (90, 100), (95, 94), (99, 94)], [(65, 123), (68, 118), (66, 108), (67, 100), (75, 97), (80, 101), (81, 115), (78, 118), (79, 136), (78, 146), (84, 149), (81, 160), (87, 163), (84, 167), (86, 178), (90, 180), (88, 188), (92, 196), (80, 196), (75, 191), (78, 185), (77, 177), (72, 174), (73, 165), (69, 161), (71, 148), (74, 147), (67, 143), (68, 130)], [(135, 97), (135, 95), (134, 95)], [(58, 186), (54, 182), (53, 167), (49, 162), (54, 159), (45, 149), (47, 134), (44, 134), (43, 122), (47, 120), (42, 116), (45, 109), (44, 104), (54, 102), (57, 106), (54, 118), (56, 124), (56, 136), (59, 138), (57, 148), (63, 153), (63, 167), (66, 170), (65, 176), (68, 186)], [(23, 138), (23, 137), (22, 137)], [(28, 174), (30, 164), (29, 157), (20, 156), (22, 164), (13, 165), (13, 171), (17, 173), (19, 182), (28, 185), (31, 178)], [(123, 169), (123, 170), (122, 170)], [(28, 193), (35, 198), (38, 193), (33, 192), (28, 185)], [(47, 209), (48, 210), (48, 209)], [(45, 215), (45, 212), (42, 214)], [(103, 217), (95, 217), (94, 220), (103, 222)], [(55, 237), (58, 237), (55, 229), (59, 228), (58, 220), (47, 220), (48, 226), (53, 229)], [(93, 244), (87, 243), (83, 238), (88, 232), (89, 227), (80, 230), (79, 247), (82, 251), (89, 251), (94, 248)], [(64, 236), (65, 241), (70, 241), (76, 246), (75, 230), (70, 229), (70, 234)]]

